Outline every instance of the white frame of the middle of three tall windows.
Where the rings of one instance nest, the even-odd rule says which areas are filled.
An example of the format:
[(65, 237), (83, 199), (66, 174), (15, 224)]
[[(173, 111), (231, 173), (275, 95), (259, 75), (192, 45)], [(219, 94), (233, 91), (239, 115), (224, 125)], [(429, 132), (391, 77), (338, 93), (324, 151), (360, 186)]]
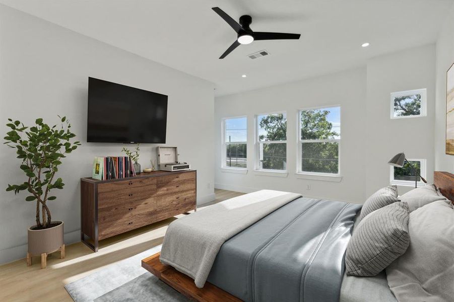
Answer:
[[(287, 176), (288, 175), (288, 137), (287, 133), (288, 131), (285, 132), (285, 140), (263, 140), (260, 141), (258, 139), (258, 116), (261, 115), (272, 115), (272, 114), (285, 114), (285, 122), (287, 124), (287, 130), (288, 130), (288, 114), (287, 111), (274, 111), (274, 112), (267, 112), (267, 113), (258, 113), (254, 115), (254, 155), (255, 155), (255, 160), (254, 160), (254, 171), (255, 172), (262, 172), (262, 175), (272, 175), (273, 173), (282, 173), (282, 175)], [(260, 144), (263, 143), (285, 143), (285, 170), (276, 170), (276, 169), (261, 169), (260, 168)]]

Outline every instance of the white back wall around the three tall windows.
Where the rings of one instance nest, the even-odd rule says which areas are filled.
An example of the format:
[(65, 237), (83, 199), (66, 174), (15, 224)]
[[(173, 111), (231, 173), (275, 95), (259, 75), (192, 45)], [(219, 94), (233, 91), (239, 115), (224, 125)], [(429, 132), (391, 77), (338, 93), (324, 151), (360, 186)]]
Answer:
[[(245, 79), (247, 81), (247, 79)], [(362, 203), (364, 201), (366, 70), (348, 70), (325, 77), (273, 86), (216, 98), (216, 187), (241, 192), (275, 189), (302, 193), (304, 196), (325, 197)], [(326, 182), (298, 179), (297, 158), (298, 109), (341, 105), (340, 170), (342, 181)], [(254, 115), (275, 111), (287, 112), (288, 177), (255, 175)], [(221, 167), (222, 118), (247, 115), (246, 175), (223, 172)], [(250, 138), (250, 139), (249, 139)], [(307, 185), (311, 189), (306, 190)]]

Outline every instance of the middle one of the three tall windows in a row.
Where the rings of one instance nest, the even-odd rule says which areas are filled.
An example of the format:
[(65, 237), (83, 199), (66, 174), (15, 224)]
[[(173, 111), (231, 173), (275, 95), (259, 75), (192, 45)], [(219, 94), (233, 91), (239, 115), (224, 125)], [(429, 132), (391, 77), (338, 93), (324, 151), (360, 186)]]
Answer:
[(287, 115), (256, 116), (258, 170), (287, 170)]

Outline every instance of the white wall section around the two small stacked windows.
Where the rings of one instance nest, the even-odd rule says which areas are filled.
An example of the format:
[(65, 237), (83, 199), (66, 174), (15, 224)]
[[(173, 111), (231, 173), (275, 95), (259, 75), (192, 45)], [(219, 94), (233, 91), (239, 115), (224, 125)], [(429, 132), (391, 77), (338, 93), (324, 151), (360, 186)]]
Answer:
[[(391, 119), (390, 93), (427, 89), (427, 116)], [(390, 183), (386, 163), (399, 152), (427, 160), (433, 181), (435, 46), (427, 45), (370, 59), (367, 62), (366, 195)], [(399, 186), (402, 194), (412, 187)]]

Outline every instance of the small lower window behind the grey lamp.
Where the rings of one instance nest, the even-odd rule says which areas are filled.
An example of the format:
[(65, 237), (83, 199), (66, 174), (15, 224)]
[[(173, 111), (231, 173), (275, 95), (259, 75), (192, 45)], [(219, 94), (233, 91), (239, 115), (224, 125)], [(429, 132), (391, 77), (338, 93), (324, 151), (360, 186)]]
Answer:
[[(411, 165), (408, 162), (410, 162)], [(394, 166), (390, 167), (391, 184), (401, 186), (414, 186), (416, 177), (418, 186), (424, 186), (424, 182), (421, 180), (421, 177), (415, 176), (415, 170), (411, 166), (413, 166), (422, 177), (426, 178), (426, 160), (412, 159), (408, 160), (408, 162), (405, 162), (404, 167), (402, 168)]]

